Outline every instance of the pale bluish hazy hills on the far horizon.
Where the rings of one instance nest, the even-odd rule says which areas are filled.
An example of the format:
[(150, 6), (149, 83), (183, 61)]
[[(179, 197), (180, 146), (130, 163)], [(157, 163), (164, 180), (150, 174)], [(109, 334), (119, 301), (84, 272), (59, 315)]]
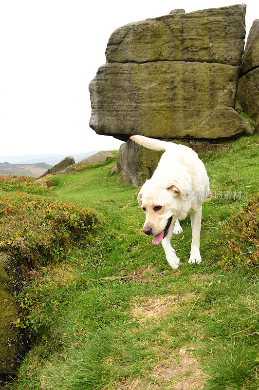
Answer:
[(75, 162), (79, 162), (84, 158), (90, 157), (98, 151), (80, 153), (80, 154), (66, 154), (66, 155), (26, 155), (26, 156), (0, 156), (0, 162), (8, 161), (10, 164), (36, 164), (45, 162), (46, 164), (56, 165), (59, 161), (67, 156), (73, 156)]

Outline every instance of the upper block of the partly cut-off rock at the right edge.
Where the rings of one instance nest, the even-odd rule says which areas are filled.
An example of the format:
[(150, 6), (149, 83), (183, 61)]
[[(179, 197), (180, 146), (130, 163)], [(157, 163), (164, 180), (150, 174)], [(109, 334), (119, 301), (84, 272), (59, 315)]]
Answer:
[(249, 31), (244, 55), (241, 65), (241, 72), (245, 73), (259, 66), (259, 19), (254, 20)]

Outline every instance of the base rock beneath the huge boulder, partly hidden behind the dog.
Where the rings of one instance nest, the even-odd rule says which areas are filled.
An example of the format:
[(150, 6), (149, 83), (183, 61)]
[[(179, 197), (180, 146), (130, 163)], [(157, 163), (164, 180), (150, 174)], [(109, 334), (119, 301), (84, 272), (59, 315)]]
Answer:
[[(229, 147), (229, 143), (224, 141), (221, 143), (210, 143), (208, 141), (187, 141), (187, 140), (170, 140), (175, 143), (188, 146), (200, 153), (205, 150), (222, 150)], [(149, 179), (164, 152), (158, 152), (144, 148), (136, 142), (129, 139), (120, 146), (119, 155), (117, 158), (117, 167), (122, 176), (124, 183), (132, 183), (135, 187), (142, 186), (146, 179)]]

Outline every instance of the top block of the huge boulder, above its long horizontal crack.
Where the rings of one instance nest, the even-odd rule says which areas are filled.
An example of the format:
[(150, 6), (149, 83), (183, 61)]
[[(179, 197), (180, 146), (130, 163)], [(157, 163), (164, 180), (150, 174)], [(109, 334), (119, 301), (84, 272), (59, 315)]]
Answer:
[(240, 65), (245, 4), (176, 13), (115, 30), (107, 62), (199, 61)]

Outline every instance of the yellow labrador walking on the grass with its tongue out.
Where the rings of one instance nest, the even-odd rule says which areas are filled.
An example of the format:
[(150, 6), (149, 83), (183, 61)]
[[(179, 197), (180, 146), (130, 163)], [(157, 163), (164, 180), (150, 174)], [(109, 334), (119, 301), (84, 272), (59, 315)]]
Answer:
[(190, 214), (192, 243), (188, 262), (201, 263), (202, 204), (209, 194), (203, 162), (184, 145), (143, 136), (130, 138), (148, 149), (165, 151), (153, 176), (138, 194), (138, 203), (146, 214), (144, 233), (153, 236), (153, 244), (162, 242), (168, 263), (177, 270), (180, 260), (171, 246), (171, 237), (183, 231), (179, 219)]

